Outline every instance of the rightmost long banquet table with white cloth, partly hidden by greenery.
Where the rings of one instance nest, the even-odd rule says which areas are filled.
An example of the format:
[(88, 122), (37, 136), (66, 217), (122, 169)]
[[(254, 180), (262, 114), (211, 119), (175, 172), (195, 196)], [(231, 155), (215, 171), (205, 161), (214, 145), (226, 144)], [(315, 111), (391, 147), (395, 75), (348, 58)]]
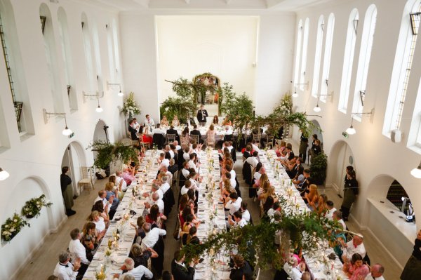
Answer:
[[(309, 212), (310, 210), (302, 199), (300, 192), (295, 188), (279, 161), (276, 161), (275, 151), (273, 149), (269, 149), (267, 152), (262, 151), (259, 154), (259, 158), (266, 168), (267, 176), (274, 186), (276, 194), (286, 198), (287, 203), (292, 206), (291, 209), (295, 213)], [(342, 271), (342, 262), (340, 262), (338, 257), (335, 260), (327, 258), (328, 255), (334, 253), (333, 248), (328, 248), (327, 241), (320, 245), (321, 250), (317, 252), (318, 255), (310, 255), (303, 252), (309, 272), (312, 274), (312, 279), (349, 279), (345, 272)]]

